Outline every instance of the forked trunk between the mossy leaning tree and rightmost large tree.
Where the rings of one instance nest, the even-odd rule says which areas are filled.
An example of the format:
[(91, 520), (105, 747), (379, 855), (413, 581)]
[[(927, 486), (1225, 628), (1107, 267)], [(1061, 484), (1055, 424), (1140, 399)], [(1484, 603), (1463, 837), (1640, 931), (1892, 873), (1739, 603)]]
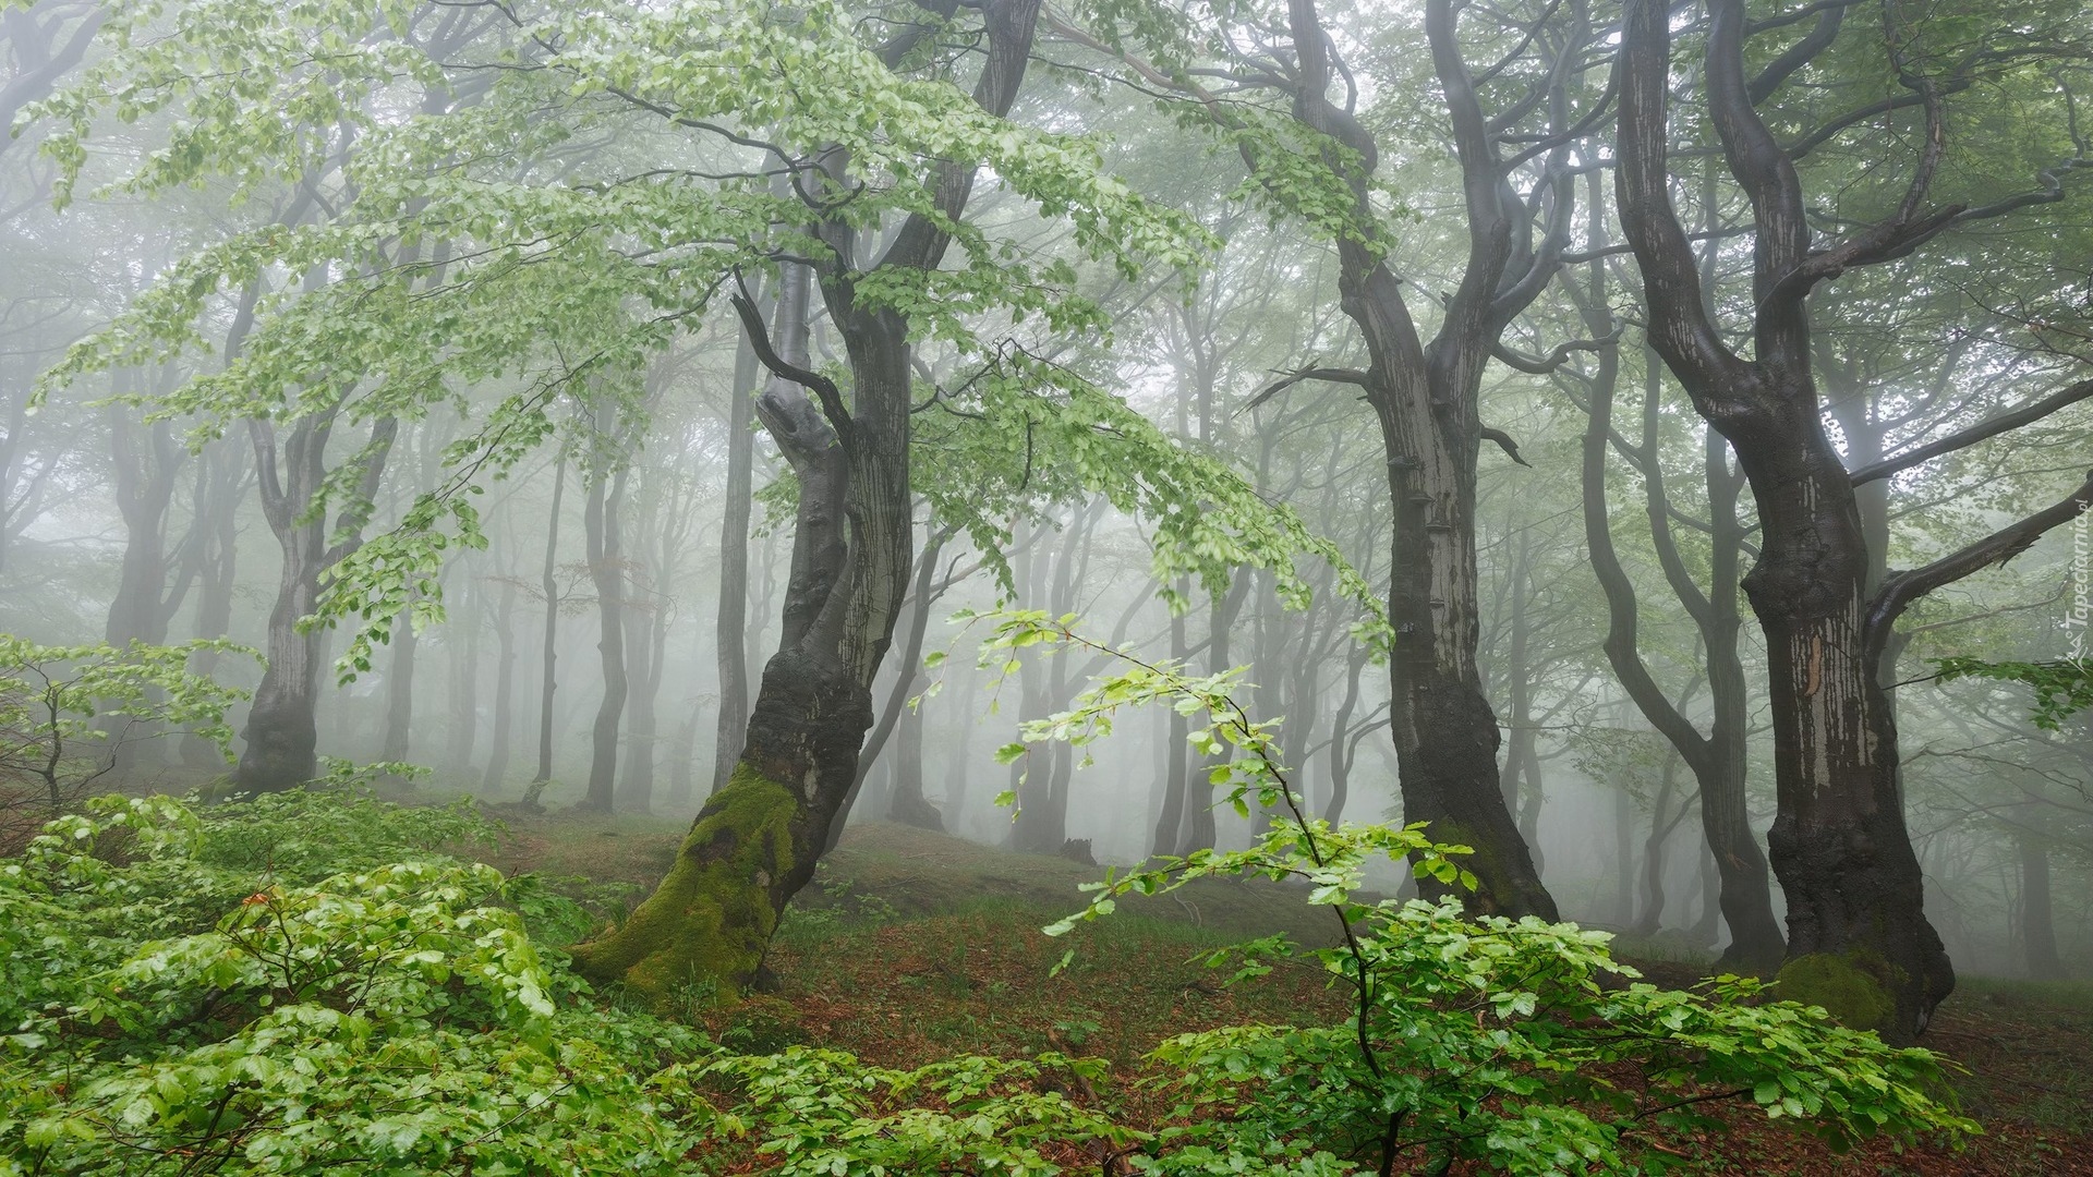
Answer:
[[(1574, 186), (1566, 168), (1568, 138), (1557, 136), (1543, 155), (1545, 174), (1536, 191), (1547, 193), (1547, 218), (1536, 247), (1538, 218), (1515, 195), (1511, 165), (1501, 155), (1517, 115), (1492, 121), (1482, 109), (1463, 57), (1459, 13), (1455, 0), (1425, 4), (1425, 34), (1461, 163), (1469, 235), (1459, 289), (1446, 299), (1438, 335), (1425, 341), (1379, 241), (1379, 214), (1369, 195), (1379, 149), (1367, 128), (1329, 101), (1337, 71), (1314, 0), (1289, 4), (1291, 46), (1300, 61), (1293, 115), (1350, 149), (1344, 157), (1327, 153), (1323, 161), (1352, 191), (1356, 216), (1337, 241), (1337, 289), (1371, 356), (1363, 373), (1319, 373), (1365, 387), (1388, 454), (1394, 517), (1388, 620), (1396, 628), (1388, 660), (1390, 729), (1404, 821), (1427, 821), (1432, 838), (1476, 850), (1463, 863), (1480, 880), (1471, 907), (1553, 919), (1555, 898), (1540, 884), (1505, 808), (1496, 714), (1476, 668), (1476, 463), (1484, 436), (1478, 415), (1482, 371), (1501, 346), (1505, 325), (1559, 268)], [(1566, 86), (1576, 73), (1572, 54), (1582, 52), (1589, 38), (1576, 17), (1568, 21), (1557, 29), (1561, 44), (1553, 50), (1561, 59), (1543, 63), (1551, 84), (1534, 107), (1543, 111), (1549, 132), (1561, 132), (1570, 121)], [(1436, 884), (1430, 886), (1436, 890)]]

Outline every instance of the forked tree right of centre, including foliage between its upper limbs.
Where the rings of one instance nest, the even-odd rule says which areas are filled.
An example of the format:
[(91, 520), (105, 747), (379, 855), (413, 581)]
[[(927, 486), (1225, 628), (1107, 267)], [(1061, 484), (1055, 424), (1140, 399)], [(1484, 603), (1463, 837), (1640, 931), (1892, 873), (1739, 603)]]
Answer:
[[(1404, 817), (1430, 821), (1436, 838), (1480, 850), (1482, 888), (1473, 903), (1490, 911), (1555, 915), (1511, 813), (1505, 808), (1496, 716), (1476, 670), (1476, 467), (1480, 444), (1509, 438), (1480, 417), (1480, 383), (1505, 327), (1540, 293), (1561, 264), (1574, 186), (1568, 151), (1603, 113), (1584, 115), (1595, 31), (1584, 6), (1545, 4), (1505, 27), (1461, 29), (1461, 6), (1423, 8), (1430, 84), (1442, 98), (1463, 193), (1465, 249), (1440, 295), (1440, 325), (1430, 337), (1404, 293), (1394, 230), (1379, 191), (1381, 147), (1358, 117), (1360, 86), (1340, 52), (1340, 38), (1314, 0), (1291, 0), (1252, 27), (1201, 29), (1197, 73), (1233, 90), (1275, 96), (1270, 107), (1222, 103), (1185, 67), (1193, 50), (1164, 42), (1153, 65), (1109, 48), (1109, 29), (1082, 40), (1141, 75), (1197, 103), (1252, 172), (1252, 188), (1273, 207), (1327, 237), (1340, 258), (1340, 304), (1358, 327), (1369, 364), (1306, 364), (1260, 396), (1302, 381), (1365, 390), (1381, 429), (1388, 503), (1394, 515), (1390, 622), (1392, 733), (1400, 762)], [(1480, 13), (1476, 15), (1480, 17)], [(1473, 17), (1471, 17), (1473, 19)], [(1176, 29), (1172, 17), (1145, 31)], [(1285, 31), (1283, 48), (1270, 29)], [(1270, 50), (1245, 50), (1241, 44)], [(1473, 69), (1482, 44), (1503, 61)], [(1168, 57), (1164, 57), (1168, 54)], [(1212, 63), (1212, 65), (1208, 65)], [(1342, 98), (1333, 90), (1342, 88)], [(1526, 191), (1520, 191), (1520, 182)]]

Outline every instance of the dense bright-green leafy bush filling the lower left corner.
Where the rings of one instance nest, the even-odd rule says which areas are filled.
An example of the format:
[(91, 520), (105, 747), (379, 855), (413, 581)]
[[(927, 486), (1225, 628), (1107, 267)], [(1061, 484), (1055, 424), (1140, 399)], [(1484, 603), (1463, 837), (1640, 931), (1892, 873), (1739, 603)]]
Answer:
[(0, 1173), (680, 1173), (707, 1045), (427, 852), (483, 829), (341, 794), (50, 823), (0, 863)]

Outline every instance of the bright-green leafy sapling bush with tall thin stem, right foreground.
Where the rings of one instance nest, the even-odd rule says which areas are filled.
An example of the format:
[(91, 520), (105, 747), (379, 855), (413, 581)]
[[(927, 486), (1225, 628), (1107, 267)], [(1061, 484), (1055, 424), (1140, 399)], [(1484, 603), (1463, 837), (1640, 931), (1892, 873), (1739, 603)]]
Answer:
[[(1193, 1177), (1333, 1177), (1473, 1160), (1515, 1175), (1637, 1173), (1683, 1164), (1639, 1141), (1720, 1127), (1720, 1104), (1794, 1118), (1844, 1148), (1892, 1133), (1959, 1135), (1978, 1127), (1940, 1102), (1940, 1062), (1848, 1030), (1821, 1007), (1769, 1001), (1756, 980), (1725, 976), (1700, 991), (1643, 984), (1607, 955), (1605, 932), (1540, 919), (1465, 915), (1444, 903), (1354, 898), (1373, 861), (1411, 861), (1417, 878), (1459, 894), (1476, 886), (1467, 846), (1423, 827), (1331, 827), (1308, 819), (1277, 760), (1277, 725), (1231, 697), (1235, 672), (1193, 676), (1139, 662), (1072, 630), (1072, 618), (1009, 612), (984, 664), (1028, 645), (1082, 647), (1128, 666), (1099, 679), (1063, 714), (1023, 725), (1028, 743), (1088, 743), (1126, 706), (1162, 702), (1193, 716), (1193, 746), (1233, 758), (1212, 771), (1224, 802), (1252, 804), (1270, 831), (1247, 850), (1160, 859), (1095, 886), (1090, 905), (1049, 934), (1109, 915), (1118, 898), (1197, 878), (1245, 873), (1308, 884), (1342, 940), (1302, 951), (1285, 936), (1222, 949), (1237, 978), (1308, 957), (1350, 995), (1352, 1016), (1323, 1026), (1224, 1026), (1166, 1041), (1155, 1087), (1172, 1127), (1141, 1156), (1143, 1173)], [(1021, 758), (1023, 743), (1005, 750)]]

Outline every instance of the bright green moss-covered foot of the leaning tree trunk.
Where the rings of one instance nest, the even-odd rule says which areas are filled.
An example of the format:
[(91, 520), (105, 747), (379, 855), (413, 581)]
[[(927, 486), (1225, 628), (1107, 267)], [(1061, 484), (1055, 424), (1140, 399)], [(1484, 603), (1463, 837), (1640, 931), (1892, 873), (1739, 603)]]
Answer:
[(741, 993), (779, 926), (779, 880), (795, 857), (791, 790), (747, 762), (705, 802), (676, 865), (624, 926), (571, 949), (592, 980), (622, 980), (655, 1005), (712, 980)]

